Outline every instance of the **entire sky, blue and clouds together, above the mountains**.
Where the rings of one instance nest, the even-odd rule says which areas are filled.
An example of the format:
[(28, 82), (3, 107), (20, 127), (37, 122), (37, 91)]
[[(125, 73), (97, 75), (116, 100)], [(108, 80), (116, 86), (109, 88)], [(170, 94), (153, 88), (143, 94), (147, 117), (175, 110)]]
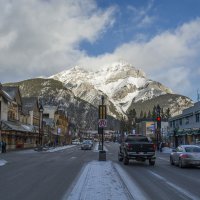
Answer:
[(0, 80), (125, 60), (196, 101), (199, 10), (199, 0), (0, 0)]

